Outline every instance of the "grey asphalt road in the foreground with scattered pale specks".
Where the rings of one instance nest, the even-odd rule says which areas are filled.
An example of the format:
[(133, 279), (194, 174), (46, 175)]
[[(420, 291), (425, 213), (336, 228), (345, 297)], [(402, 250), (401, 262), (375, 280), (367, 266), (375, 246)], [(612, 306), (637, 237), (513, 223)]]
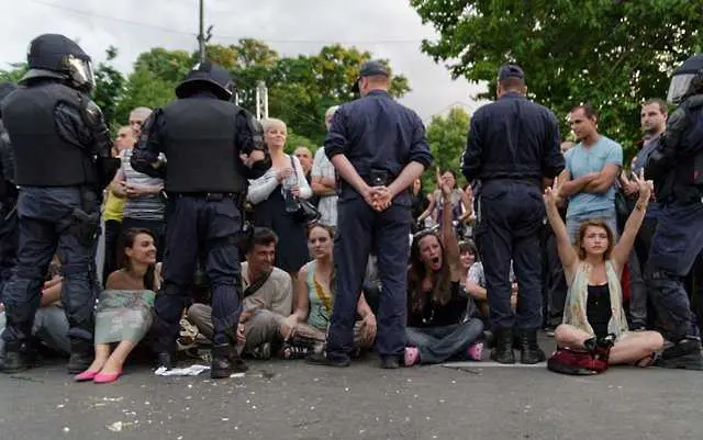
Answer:
[(77, 384), (63, 364), (0, 376), (0, 439), (696, 439), (703, 374), (593, 377), (490, 362), (380, 370), (252, 362), (242, 379)]

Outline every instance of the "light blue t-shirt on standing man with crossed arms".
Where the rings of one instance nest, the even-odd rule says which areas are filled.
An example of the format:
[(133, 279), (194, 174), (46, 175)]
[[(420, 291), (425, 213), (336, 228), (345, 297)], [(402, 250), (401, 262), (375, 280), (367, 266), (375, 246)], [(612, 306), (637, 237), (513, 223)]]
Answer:
[[(579, 143), (576, 147), (567, 151), (566, 166), (571, 179), (578, 179), (589, 172), (600, 172), (606, 163), (623, 166), (623, 147), (615, 140), (602, 136), (590, 147)], [(567, 218), (588, 214), (594, 211), (605, 211), (615, 208), (615, 181), (613, 185), (603, 194), (579, 192), (569, 199)]]

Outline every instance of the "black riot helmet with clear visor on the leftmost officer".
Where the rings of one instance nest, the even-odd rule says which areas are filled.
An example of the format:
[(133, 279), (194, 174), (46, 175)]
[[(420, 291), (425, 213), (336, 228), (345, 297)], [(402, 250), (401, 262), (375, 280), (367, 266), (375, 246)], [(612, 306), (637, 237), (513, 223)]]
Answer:
[(30, 70), (20, 83), (34, 78), (56, 78), (85, 92), (96, 87), (90, 57), (76, 42), (64, 35), (44, 34), (32, 40), (26, 60)]

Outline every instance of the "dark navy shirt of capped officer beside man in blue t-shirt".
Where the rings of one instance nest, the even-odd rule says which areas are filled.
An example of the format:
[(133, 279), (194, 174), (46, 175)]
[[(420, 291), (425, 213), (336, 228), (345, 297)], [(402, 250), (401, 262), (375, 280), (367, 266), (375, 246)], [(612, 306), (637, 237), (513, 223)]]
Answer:
[(557, 119), (548, 109), (509, 92), (471, 116), (461, 172), (475, 179), (524, 179), (540, 184), (563, 170)]

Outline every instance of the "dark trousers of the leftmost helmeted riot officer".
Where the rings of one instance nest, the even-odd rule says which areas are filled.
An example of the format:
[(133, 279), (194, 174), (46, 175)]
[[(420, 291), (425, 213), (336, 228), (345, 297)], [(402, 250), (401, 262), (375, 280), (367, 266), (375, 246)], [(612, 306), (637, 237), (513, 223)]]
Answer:
[[(99, 228), (97, 203), (87, 207), (78, 187), (25, 187), (20, 190), (18, 264), (4, 286), (8, 319), (4, 341), (21, 343), (32, 335), (42, 286), (54, 255), (64, 277), (62, 304), (71, 339), (92, 340), (98, 282), (94, 264)], [(94, 193), (90, 194), (94, 200)], [(80, 215), (79, 215), (80, 214)], [(90, 224), (86, 216), (92, 216)]]

